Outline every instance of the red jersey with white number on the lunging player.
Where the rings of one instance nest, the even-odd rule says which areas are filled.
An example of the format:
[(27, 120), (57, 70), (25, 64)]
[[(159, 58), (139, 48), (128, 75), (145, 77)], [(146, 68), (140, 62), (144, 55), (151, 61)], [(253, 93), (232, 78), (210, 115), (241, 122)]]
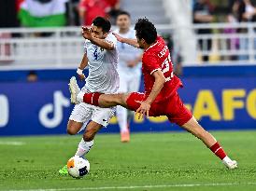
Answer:
[(157, 70), (162, 70), (166, 82), (154, 102), (162, 102), (173, 95), (179, 87), (182, 87), (182, 83), (173, 74), (170, 51), (161, 36), (158, 36), (156, 42), (144, 51), (142, 57), (142, 73), (146, 97), (149, 96), (155, 82), (152, 74)]

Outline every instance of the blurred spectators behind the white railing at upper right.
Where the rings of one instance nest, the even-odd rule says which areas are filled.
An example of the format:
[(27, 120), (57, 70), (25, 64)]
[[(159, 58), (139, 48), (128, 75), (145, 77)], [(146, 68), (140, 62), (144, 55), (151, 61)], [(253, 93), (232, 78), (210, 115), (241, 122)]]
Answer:
[[(212, 4), (213, 1), (210, 0), (196, 0), (193, 3), (193, 23), (211, 23), (214, 21), (238, 23), (238, 22), (253, 22), (256, 21), (256, 7), (255, 1), (252, 0), (229, 0), (228, 7), (221, 9), (220, 7), (215, 7)], [(224, 17), (220, 17), (220, 13)], [(235, 28), (225, 28), (225, 34), (243, 34), (247, 29), (235, 29)], [(199, 29), (196, 31), (197, 34), (212, 34), (212, 29)], [(247, 49), (248, 39), (231, 39), (227, 42), (231, 49)], [(204, 45), (206, 44), (206, 46)], [(254, 48), (256, 43), (254, 43)], [(198, 42), (199, 48), (205, 46), (205, 50), (210, 50), (212, 48), (212, 40), (207, 39), (206, 43), (203, 40)], [(231, 56), (229, 60), (245, 60), (248, 56)], [(203, 61), (208, 61), (208, 56), (203, 56)]]

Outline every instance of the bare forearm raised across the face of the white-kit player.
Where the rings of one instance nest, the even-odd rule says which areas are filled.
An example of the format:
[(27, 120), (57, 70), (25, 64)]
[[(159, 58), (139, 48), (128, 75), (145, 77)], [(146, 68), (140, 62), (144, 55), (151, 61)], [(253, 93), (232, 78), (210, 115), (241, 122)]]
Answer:
[(104, 48), (104, 49), (107, 49), (107, 50), (113, 50), (115, 48), (113, 43), (108, 42), (105, 39), (100, 39), (100, 38), (93, 37), (91, 30), (87, 27), (82, 26), (82, 36), (85, 39), (90, 40), (92, 42), (92, 44), (94, 44), (94, 45), (96, 45), (100, 48)]

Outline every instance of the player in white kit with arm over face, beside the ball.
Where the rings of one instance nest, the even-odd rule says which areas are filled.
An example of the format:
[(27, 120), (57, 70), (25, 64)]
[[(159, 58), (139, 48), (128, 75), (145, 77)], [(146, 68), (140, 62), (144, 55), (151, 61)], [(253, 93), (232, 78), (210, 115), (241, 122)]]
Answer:
[[(119, 89), (117, 39), (113, 34), (108, 33), (110, 27), (110, 22), (102, 17), (92, 21), (91, 29), (82, 27), (82, 34), (86, 39), (85, 53), (77, 73), (80, 79), (85, 79), (82, 71), (88, 65), (89, 75), (81, 90), (78, 88), (76, 77), (73, 76), (69, 84), (71, 102), (76, 105), (69, 117), (67, 133), (75, 135), (86, 129), (78, 143), (75, 156), (84, 157), (90, 151), (95, 134), (102, 127), (107, 127), (109, 119), (114, 115), (113, 108), (100, 108), (84, 102), (76, 102), (79, 92), (115, 93)], [(67, 174), (66, 165), (59, 172)]]

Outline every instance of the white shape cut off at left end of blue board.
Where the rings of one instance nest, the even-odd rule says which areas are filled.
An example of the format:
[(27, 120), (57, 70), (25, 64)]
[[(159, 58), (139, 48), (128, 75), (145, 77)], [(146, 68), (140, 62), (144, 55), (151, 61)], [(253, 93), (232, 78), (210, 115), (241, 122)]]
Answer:
[(0, 95), (0, 128), (7, 126), (9, 119), (9, 104), (7, 96)]

